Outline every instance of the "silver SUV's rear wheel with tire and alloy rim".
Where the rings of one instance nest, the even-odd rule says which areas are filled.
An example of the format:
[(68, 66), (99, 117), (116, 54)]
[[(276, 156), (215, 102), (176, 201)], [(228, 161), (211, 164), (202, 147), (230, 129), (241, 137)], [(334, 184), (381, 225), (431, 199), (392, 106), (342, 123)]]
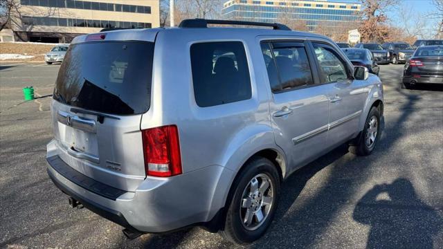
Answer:
[[(264, 188), (266, 187), (264, 179), (269, 181), (269, 186), (266, 189)], [(253, 185), (257, 186), (255, 194), (251, 192), (254, 188)], [(260, 190), (261, 187), (265, 191)], [(263, 194), (260, 195), (261, 192)], [(226, 202), (224, 228), (220, 231), (221, 236), (238, 244), (251, 243), (260, 239), (271, 225), (277, 208), (279, 192), (280, 174), (275, 165), (262, 157), (249, 161), (244, 165), (244, 169), (237, 174), (231, 187), (230, 200)], [(267, 205), (265, 205), (266, 201)], [(262, 214), (261, 221), (259, 212)], [(251, 215), (248, 216), (248, 214)], [(251, 217), (251, 219), (247, 220), (246, 217)]]

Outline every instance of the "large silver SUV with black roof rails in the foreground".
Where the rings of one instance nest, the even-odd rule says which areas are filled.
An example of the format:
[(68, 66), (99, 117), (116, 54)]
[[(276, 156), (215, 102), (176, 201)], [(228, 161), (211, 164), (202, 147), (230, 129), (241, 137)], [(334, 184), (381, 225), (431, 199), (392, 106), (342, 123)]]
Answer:
[(82, 35), (55, 84), (48, 174), (129, 238), (200, 225), (248, 243), (289, 174), (345, 142), (370, 154), (382, 113), (379, 77), (280, 24)]

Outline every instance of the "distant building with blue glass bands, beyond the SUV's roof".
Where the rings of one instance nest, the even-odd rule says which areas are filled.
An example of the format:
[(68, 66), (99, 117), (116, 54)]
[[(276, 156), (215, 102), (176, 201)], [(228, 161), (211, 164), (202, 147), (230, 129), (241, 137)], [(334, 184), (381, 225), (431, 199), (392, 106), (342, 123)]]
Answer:
[[(317, 26), (345, 27), (359, 21), (361, 4), (317, 0), (229, 0), (223, 5), (224, 19), (279, 22), (303, 20), (309, 31)], [(333, 32), (333, 31), (332, 31)]]

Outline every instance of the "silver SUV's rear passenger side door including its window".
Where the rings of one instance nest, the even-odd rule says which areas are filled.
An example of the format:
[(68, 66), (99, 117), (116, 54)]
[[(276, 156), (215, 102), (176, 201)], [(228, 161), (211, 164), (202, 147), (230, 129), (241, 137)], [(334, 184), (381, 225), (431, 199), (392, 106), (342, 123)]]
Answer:
[(287, 153), (291, 171), (325, 150), (330, 87), (317, 84), (314, 58), (305, 42), (271, 40), (261, 46), (275, 142)]

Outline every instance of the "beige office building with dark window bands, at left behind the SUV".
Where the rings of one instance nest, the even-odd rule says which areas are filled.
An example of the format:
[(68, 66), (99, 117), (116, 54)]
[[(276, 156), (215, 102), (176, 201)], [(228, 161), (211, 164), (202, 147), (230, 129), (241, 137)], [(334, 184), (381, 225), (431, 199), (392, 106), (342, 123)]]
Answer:
[(15, 41), (71, 42), (102, 28), (159, 26), (159, 0), (15, 0)]

